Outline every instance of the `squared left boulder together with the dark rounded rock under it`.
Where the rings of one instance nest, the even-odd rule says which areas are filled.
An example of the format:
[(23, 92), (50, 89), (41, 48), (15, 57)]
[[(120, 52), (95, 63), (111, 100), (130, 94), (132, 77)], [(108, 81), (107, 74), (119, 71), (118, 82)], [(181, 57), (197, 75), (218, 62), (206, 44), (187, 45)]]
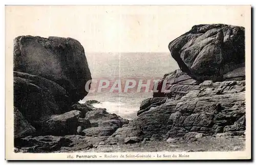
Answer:
[(87, 95), (92, 78), (77, 40), (18, 36), (13, 56), (14, 106), (37, 131), (41, 117), (66, 113)]

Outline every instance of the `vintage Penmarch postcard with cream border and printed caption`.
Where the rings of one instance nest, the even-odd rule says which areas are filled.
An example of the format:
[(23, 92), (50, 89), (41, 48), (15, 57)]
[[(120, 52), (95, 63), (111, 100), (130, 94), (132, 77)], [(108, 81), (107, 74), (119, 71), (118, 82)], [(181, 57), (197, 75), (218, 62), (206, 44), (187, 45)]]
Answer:
[(7, 160), (251, 159), (251, 6), (6, 6)]

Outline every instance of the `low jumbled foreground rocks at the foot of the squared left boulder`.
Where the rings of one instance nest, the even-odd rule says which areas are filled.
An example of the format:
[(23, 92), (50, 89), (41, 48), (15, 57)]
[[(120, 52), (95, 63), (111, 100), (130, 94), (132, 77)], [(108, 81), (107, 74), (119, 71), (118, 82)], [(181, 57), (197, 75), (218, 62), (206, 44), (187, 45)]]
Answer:
[(15, 111), (15, 128), (20, 128), (15, 133), (31, 134), (14, 139), (15, 151), (38, 153), (88, 150), (102, 144), (118, 128), (129, 123), (116, 114), (106, 112), (104, 108), (94, 108), (91, 104), (95, 102), (76, 103), (69, 112), (44, 117), (40, 130), (34, 129)]

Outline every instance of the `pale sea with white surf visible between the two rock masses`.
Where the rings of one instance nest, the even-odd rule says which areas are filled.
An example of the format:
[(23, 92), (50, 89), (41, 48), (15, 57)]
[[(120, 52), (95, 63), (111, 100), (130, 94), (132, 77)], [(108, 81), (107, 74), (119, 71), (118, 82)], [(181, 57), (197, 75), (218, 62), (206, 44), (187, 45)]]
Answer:
[[(114, 82), (120, 79), (125, 82), (126, 79), (132, 79), (137, 83), (139, 80), (146, 82), (146, 80), (161, 79), (164, 74), (178, 68), (178, 64), (168, 52), (86, 53), (86, 57), (92, 79), (95, 80), (107, 79)], [(116, 113), (125, 119), (134, 119), (141, 102), (152, 96), (151, 90), (137, 92), (137, 88), (134, 88), (129, 92), (110, 92), (107, 88), (101, 92), (90, 92), (80, 103), (97, 100), (101, 104), (95, 104), (95, 107), (106, 108), (109, 113)]]

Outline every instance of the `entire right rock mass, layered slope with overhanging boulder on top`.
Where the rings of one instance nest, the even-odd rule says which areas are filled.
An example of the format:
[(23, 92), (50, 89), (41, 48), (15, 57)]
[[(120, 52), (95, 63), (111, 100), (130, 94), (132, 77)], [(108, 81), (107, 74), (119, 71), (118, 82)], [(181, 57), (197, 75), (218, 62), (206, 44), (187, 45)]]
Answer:
[(198, 25), (169, 43), (180, 69), (156, 83), (137, 118), (106, 140), (197, 140), (245, 131), (244, 28)]

